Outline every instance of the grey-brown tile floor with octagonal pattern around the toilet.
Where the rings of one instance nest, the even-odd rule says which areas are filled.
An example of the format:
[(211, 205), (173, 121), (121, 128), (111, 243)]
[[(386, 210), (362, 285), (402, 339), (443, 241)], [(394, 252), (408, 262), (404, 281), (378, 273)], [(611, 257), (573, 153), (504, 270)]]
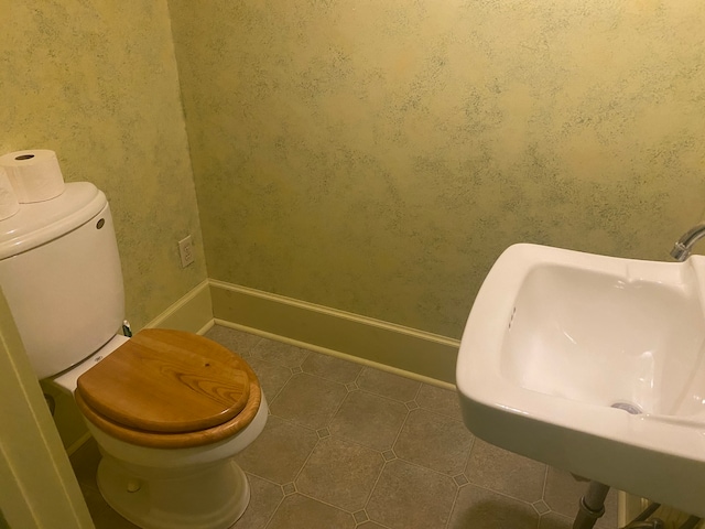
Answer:
[[(453, 391), (215, 326), (270, 404), (238, 464), (252, 499), (235, 529), (571, 529), (570, 474), (474, 438)], [(94, 442), (72, 464), (98, 529), (134, 528), (102, 500)], [(596, 527), (617, 527), (616, 494)]]

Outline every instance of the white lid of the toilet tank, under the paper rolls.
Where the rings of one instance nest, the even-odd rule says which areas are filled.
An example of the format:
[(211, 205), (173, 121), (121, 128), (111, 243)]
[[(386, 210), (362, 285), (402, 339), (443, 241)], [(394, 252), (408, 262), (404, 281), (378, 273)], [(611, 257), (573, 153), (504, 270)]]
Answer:
[(73, 182), (55, 198), (20, 204), (0, 220), (0, 260), (54, 240), (84, 225), (106, 206), (106, 195), (90, 182)]

